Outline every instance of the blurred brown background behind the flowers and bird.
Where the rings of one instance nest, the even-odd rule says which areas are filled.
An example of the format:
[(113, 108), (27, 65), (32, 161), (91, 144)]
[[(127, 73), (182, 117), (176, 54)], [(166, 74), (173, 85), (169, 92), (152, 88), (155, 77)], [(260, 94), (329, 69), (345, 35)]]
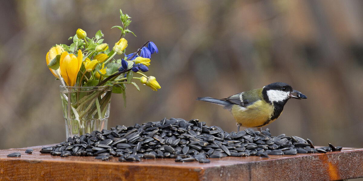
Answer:
[[(111, 101), (109, 127), (197, 118), (235, 131), (225, 98), (282, 81), (306, 94), (268, 127), (315, 145), (363, 147), (363, 1), (0, 1), (0, 149), (65, 139), (59, 85), (45, 63), (78, 28), (112, 47), (119, 12), (132, 17), (127, 53), (151, 39), (157, 92), (129, 85)], [(119, 58), (119, 57), (118, 57)]]

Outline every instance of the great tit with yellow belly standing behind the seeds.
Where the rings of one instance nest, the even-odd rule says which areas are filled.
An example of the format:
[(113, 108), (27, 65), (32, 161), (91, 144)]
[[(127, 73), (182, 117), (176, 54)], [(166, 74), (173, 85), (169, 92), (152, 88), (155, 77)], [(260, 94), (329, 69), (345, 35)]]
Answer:
[[(296, 93), (293, 96), (292, 93)], [(253, 89), (229, 96), (224, 99), (198, 97), (199, 101), (212, 102), (224, 106), (231, 111), (237, 122), (237, 131), (242, 127), (257, 127), (261, 131), (275, 121), (290, 98), (306, 99), (301, 92), (294, 90), (289, 84), (275, 82), (260, 89)]]

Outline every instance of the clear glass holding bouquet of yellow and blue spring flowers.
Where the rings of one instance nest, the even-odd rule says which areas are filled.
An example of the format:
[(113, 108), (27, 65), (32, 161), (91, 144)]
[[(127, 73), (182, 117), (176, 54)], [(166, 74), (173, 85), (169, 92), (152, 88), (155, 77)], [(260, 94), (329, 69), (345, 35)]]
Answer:
[[(67, 138), (107, 129), (111, 94), (122, 94), (126, 106), (127, 84), (139, 91), (135, 80), (155, 91), (161, 88), (155, 77), (142, 73), (148, 71), (151, 55), (158, 53), (153, 42), (147, 41), (135, 52), (126, 54), (128, 44), (123, 37), (129, 33), (135, 35), (128, 29), (130, 18), (120, 9), (122, 25), (112, 28), (121, 30), (121, 36), (111, 50), (109, 44), (103, 43), (101, 30), (89, 38), (86, 31), (78, 29), (76, 35), (69, 37), (72, 44), (55, 45), (46, 54), (49, 70), (62, 83), (61, 101)], [(117, 55), (124, 57), (117, 59)]]

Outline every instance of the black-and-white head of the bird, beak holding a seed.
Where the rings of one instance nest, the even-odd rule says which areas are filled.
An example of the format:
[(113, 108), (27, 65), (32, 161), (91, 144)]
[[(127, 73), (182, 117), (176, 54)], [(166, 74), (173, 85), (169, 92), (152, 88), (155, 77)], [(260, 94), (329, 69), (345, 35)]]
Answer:
[[(297, 93), (293, 96), (291, 93)], [(294, 90), (289, 84), (282, 82), (275, 82), (266, 85), (262, 89), (262, 95), (266, 102), (285, 104), (289, 98), (306, 99), (307, 97), (301, 92)]]

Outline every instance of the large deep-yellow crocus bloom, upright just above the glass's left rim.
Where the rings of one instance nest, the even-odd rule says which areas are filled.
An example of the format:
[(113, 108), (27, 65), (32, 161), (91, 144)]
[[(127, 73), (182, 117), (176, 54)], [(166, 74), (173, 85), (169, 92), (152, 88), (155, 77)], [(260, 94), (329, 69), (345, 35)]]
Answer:
[(74, 86), (77, 79), (77, 74), (82, 66), (83, 54), (81, 50), (78, 50), (78, 56), (63, 52), (59, 62), (59, 68), (61, 75), (68, 86)]

